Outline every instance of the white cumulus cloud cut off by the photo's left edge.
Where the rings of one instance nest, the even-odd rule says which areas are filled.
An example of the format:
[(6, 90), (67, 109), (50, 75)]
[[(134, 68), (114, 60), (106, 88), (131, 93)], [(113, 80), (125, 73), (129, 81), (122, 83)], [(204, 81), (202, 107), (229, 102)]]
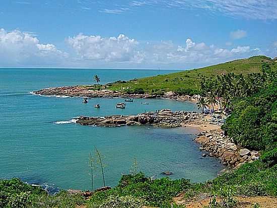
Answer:
[(53, 44), (40, 44), (32, 33), (0, 29), (0, 64), (20, 65), (24, 63), (53, 62), (66, 57)]

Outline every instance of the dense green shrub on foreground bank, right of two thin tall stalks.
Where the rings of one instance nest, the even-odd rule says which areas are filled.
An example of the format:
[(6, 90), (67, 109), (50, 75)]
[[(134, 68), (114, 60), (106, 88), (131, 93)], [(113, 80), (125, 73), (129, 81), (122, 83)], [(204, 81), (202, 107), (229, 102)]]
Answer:
[(142, 173), (124, 175), (117, 187), (93, 195), (90, 204), (104, 203), (106, 198), (110, 196), (132, 196), (142, 199), (145, 205), (168, 207), (172, 197), (187, 190), (189, 186), (189, 180), (186, 179), (170, 180), (169, 178), (162, 178), (151, 180)]

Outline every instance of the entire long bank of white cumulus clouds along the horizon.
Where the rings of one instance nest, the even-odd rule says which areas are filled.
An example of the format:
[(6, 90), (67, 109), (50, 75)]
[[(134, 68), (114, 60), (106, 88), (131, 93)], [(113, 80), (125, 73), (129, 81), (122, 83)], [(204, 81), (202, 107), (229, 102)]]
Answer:
[(184, 44), (172, 41), (139, 43), (124, 34), (117, 37), (78, 34), (67, 38), (66, 43), (70, 46), (70, 53), (51, 43), (40, 43), (33, 33), (0, 29), (0, 67), (196, 67), (260, 53), (259, 48), (250, 46), (227, 49), (195, 42), (191, 38), (187, 38)]

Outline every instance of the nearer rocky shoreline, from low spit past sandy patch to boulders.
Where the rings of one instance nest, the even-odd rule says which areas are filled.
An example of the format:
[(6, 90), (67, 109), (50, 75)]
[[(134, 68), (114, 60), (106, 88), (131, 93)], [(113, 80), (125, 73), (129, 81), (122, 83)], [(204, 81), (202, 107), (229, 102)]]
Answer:
[(225, 136), (221, 126), (225, 117), (220, 114), (201, 114), (195, 112), (163, 109), (158, 112), (147, 112), (130, 116), (78, 117), (77, 124), (99, 127), (120, 127), (125, 125), (151, 125), (158, 128), (184, 127), (199, 130), (193, 139), (197, 142), (202, 157), (218, 158), (227, 167), (220, 173), (237, 169), (247, 162), (254, 162), (260, 156), (257, 151), (250, 151)]

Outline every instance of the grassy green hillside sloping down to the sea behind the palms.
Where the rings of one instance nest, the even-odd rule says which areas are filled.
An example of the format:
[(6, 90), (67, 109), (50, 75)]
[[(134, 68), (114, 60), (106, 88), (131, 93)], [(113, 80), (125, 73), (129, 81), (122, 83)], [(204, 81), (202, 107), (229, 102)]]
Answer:
[[(263, 62), (273, 63), (271, 58), (256, 56), (200, 69), (146, 77), (127, 82), (115, 82), (108, 84), (106, 87), (108, 89), (125, 90), (130, 92), (135, 89), (142, 88), (145, 92), (152, 94), (162, 94), (163, 92), (170, 90), (176, 92), (184, 91), (185, 93), (193, 94), (199, 89), (201, 76), (211, 77), (231, 72), (236, 74), (259, 72), (261, 69), (261, 63)], [(274, 67), (276, 68), (276, 65)]]

